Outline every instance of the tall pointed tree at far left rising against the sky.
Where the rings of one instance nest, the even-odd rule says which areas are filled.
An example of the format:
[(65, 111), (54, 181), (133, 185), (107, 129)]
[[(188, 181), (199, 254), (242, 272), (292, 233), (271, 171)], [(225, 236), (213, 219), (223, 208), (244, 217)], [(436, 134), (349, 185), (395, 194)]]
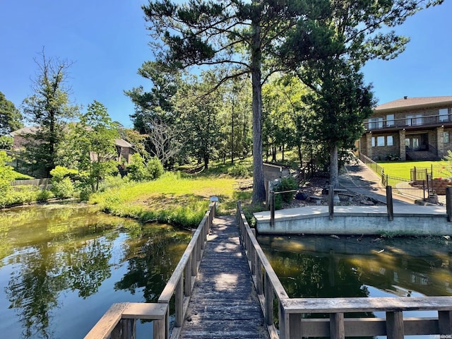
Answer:
[(42, 167), (47, 175), (57, 162), (59, 143), (64, 126), (74, 117), (78, 107), (71, 105), (67, 73), (71, 64), (59, 59), (36, 61), (39, 69), (34, 81), (34, 94), (23, 101), (23, 113), (30, 123), (37, 126), (35, 133), (24, 135), (25, 158)]

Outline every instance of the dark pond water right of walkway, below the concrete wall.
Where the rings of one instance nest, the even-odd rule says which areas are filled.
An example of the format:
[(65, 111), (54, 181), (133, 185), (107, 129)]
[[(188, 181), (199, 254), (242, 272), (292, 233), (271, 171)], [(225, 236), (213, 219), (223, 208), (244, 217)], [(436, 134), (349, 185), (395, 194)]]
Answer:
[[(452, 241), (446, 237), (259, 236), (258, 242), (289, 297), (452, 295)], [(410, 311), (404, 316), (437, 313)]]

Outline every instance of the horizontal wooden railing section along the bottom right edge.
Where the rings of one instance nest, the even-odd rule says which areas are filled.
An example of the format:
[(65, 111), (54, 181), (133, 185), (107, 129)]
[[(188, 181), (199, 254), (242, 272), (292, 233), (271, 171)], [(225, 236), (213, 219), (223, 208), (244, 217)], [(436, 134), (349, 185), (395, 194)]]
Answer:
[[(452, 333), (452, 297), (292, 298), (281, 300), (281, 338), (386, 335), (448, 335)], [(384, 318), (344, 318), (345, 313), (386, 312)], [(404, 311), (438, 311), (437, 318), (403, 317)], [(330, 314), (307, 319), (302, 314)], [(283, 326), (281, 326), (283, 325)]]

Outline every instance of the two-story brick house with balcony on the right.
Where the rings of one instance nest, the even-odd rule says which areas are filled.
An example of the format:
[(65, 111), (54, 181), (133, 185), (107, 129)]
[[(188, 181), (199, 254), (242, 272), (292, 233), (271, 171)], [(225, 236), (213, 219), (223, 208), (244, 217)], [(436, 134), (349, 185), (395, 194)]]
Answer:
[(437, 160), (452, 150), (452, 96), (403, 97), (379, 105), (359, 139), (373, 160)]

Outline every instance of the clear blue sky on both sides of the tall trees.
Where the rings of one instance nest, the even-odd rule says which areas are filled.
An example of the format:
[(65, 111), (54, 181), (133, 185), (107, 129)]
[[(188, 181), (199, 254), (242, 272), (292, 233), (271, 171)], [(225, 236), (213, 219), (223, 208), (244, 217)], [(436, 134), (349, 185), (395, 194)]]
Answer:
[[(73, 61), (74, 102), (97, 100), (112, 119), (131, 127), (133, 104), (124, 90), (149, 85), (137, 75), (153, 57), (143, 0), (0, 0), (0, 91), (20, 107), (32, 94), (39, 53)], [(365, 81), (379, 104), (410, 97), (452, 95), (452, 1), (409, 18), (396, 31), (411, 37), (391, 61), (369, 61)]]

